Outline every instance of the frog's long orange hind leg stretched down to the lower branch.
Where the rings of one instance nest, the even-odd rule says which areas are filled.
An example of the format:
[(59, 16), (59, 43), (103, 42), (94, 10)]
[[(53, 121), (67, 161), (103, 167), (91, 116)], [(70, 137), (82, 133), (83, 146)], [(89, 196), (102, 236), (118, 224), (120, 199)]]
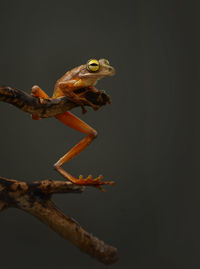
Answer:
[(63, 114), (57, 115), (56, 118), (62, 123), (86, 134), (87, 136), (83, 138), (79, 143), (77, 143), (72, 149), (70, 149), (62, 158), (60, 158), (58, 162), (54, 164), (54, 168), (62, 176), (75, 184), (93, 186), (101, 190), (103, 190), (101, 188), (101, 185), (114, 185), (114, 181), (102, 181), (101, 179), (103, 177), (101, 175), (95, 179), (93, 179), (91, 175), (89, 175), (87, 178), (83, 178), (82, 175), (79, 176), (79, 178), (75, 178), (62, 168), (62, 165), (65, 162), (71, 160), (73, 157), (83, 151), (97, 137), (97, 132), (84, 121), (82, 121), (70, 112), (65, 112)]

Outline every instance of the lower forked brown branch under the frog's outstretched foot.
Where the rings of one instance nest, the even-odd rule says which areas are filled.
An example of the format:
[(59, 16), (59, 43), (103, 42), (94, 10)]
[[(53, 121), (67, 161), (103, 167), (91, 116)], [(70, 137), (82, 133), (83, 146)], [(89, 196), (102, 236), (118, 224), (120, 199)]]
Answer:
[(0, 211), (15, 207), (37, 217), (80, 250), (105, 264), (118, 260), (117, 249), (86, 232), (51, 201), (54, 193), (81, 193), (84, 187), (67, 181), (41, 180), (32, 183), (0, 177)]

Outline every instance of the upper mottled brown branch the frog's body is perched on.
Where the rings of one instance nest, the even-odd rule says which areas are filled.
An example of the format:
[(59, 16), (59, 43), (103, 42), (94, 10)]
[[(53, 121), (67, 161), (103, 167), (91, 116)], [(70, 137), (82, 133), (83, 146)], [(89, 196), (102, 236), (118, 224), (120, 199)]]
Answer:
[(14, 89), (9, 86), (0, 87), (0, 101), (9, 103), (24, 112), (30, 113), (40, 118), (54, 117), (64, 113), (72, 108), (81, 106), (85, 113), (84, 106), (90, 106), (97, 110), (101, 106), (110, 103), (110, 97), (104, 92), (97, 89), (85, 88), (82, 89), (80, 100), (82, 105), (74, 103), (66, 97), (59, 98), (37, 98), (19, 89)]

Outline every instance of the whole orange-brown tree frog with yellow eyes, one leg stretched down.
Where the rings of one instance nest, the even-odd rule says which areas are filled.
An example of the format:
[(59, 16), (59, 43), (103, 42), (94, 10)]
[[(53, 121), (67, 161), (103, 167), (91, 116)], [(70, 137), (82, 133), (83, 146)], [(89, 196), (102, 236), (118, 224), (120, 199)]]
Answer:
[[(65, 96), (69, 100), (78, 103), (82, 109), (84, 109), (84, 98), (81, 97), (81, 92), (84, 89), (90, 88), (92, 91), (98, 91), (94, 86), (97, 81), (103, 77), (112, 76), (115, 73), (115, 69), (110, 65), (109, 61), (106, 59), (91, 59), (87, 64), (80, 65), (73, 68), (72, 70), (65, 73), (60, 79), (57, 80), (54, 88), (54, 93), (52, 98), (58, 98)], [(35, 97), (40, 98), (50, 98), (39, 86), (33, 86), (31, 94)], [(95, 105), (90, 104), (94, 109), (97, 109)], [(36, 116), (32, 116), (33, 119), (39, 119)], [(97, 131), (90, 127), (87, 123), (83, 122), (81, 119), (73, 115), (71, 112), (65, 112), (56, 116), (56, 118), (62, 123), (74, 128), (84, 134), (86, 137), (83, 138), (79, 143), (77, 143), (73, 148), (71, 148), (63, 157), (61, 157), (55, 164), (54, 168), (67, 180), (74, 184), (94, 186), (101, 190), (101, 185), (113, 185), (113, 181), (102, 181), (102, 175), (97, 178), (92, 178), (89, 175), (83, 178), (82, 175), (79, 178), (75, 178), (68, 172), (66, 172), (62, 165), (67, 161), (71, 160), (81, 151), (83, 151), (94, 138), (97, 137)]]

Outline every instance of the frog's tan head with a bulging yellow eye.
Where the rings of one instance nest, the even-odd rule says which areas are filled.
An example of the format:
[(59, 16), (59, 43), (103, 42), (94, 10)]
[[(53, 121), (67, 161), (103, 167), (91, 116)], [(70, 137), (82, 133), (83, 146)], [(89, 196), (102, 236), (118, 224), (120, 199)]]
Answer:
[(92, 86), (103, 77), (113, 76), (115, 69), (106, 59), (90, 59), (87, 64), (82, 65), (79, 77), (87, 86)]

